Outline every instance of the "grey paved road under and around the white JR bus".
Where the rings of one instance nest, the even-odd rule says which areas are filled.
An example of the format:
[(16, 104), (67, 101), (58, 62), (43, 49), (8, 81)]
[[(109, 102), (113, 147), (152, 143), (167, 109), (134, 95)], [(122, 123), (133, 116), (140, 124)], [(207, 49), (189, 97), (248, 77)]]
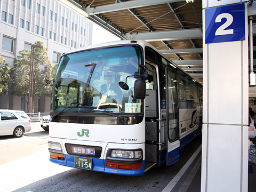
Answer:
[[(200, 137), (189, 143), (181, 150), (180, 161), (172, 166), (155, 167), (141, 177), (126, 177), (51, 163), (47, 150), (48, 132), (43, 131), (39, 123), (32, 126), (31, 132), (22, 138), (0, 137), (0, 191), (174, 192), (180, 189), (196, 164), (202, 143)], [(190, 159), (193, 154), (195, 158)]]

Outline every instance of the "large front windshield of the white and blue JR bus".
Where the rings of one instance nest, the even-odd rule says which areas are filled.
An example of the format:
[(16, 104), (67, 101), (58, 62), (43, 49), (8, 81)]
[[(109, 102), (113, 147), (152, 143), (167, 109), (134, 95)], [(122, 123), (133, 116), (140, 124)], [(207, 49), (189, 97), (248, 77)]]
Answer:
[(136, 79), (127, 78), (127, 91), (118, 84), (134, 75), (141, 64), (142, 50), (136, 45), (64, 55), (53, 84), (51, 112), (66, 108), (65, 113), (141, 113), (142, 101), (133, 97)]

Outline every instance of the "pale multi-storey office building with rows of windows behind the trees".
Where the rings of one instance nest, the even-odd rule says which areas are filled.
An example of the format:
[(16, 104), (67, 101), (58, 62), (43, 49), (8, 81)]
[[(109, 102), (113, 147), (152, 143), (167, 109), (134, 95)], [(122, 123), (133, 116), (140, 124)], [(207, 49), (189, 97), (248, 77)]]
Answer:
[[(54, 66), (63, 52), (92, 44), (92, 23), (75, 10), (54, 0), (0, 1), (0, 55), (13, 68), (19, 51), (31, 49), (38, 40), (45, 43)], [(0, 108), (27, 110), (27, 95), (0, 96)], [(36, 97), (34, 112), (50, 112), (50, 98)]]

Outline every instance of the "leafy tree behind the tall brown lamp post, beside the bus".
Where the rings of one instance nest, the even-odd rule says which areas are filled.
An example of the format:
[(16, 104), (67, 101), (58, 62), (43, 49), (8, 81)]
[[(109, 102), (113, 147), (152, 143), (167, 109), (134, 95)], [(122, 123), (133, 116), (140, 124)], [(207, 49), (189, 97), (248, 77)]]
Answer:
[[(34, 50), (34, 73), (33, 73), (33, 95), (32, 113), (34, 113), (35, 96), (42, 93), (49, 94), (50, 87), (45, 86), (45, 77), (51, 75), (51, 63), (45, 49), (43, 41), (36, 41), (35, 45), (42, 44)], [(30, 74), (30, 52), (31, 50), (19, 51), (19, 56), (14, 59), (14, 77), (12, 94), (21, 96), (29, 93), (29, 74)], [(28, 95), (29, 96), (29, 95)]]

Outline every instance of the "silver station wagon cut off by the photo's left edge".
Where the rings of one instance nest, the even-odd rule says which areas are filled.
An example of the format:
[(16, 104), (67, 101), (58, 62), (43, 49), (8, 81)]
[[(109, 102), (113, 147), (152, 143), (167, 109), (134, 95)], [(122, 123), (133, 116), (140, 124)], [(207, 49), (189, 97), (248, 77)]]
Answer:
[(21, 137), (31, 130), (31, 119), (21, 110), (0, 109), (0, 135)]

